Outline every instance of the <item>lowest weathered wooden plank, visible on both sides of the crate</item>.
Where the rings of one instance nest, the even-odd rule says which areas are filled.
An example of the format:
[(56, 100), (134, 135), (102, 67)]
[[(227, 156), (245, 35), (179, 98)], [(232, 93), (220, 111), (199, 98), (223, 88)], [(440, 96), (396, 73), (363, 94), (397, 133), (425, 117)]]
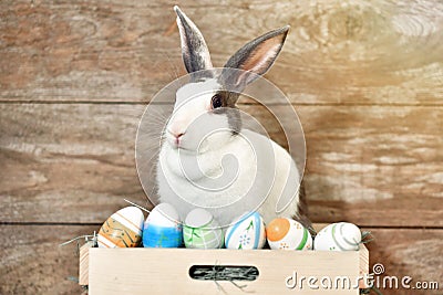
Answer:
[[(74, 244), (60, 247), (71, 238), (91, 234), (96, 226), (0, 225), (1, 294), (81, 294), (74, 282), (79, 256)], [(369, 229), (375, 241), (369, 244), (371, 265), (382, 263), (385, 275), (409, 275), (413, 282), (443, 282), (442, 230)], [(284, 284), (284, 283), (282, 283)], [(389, 294), (441, 294), (437, 291), (383, 289)]]

